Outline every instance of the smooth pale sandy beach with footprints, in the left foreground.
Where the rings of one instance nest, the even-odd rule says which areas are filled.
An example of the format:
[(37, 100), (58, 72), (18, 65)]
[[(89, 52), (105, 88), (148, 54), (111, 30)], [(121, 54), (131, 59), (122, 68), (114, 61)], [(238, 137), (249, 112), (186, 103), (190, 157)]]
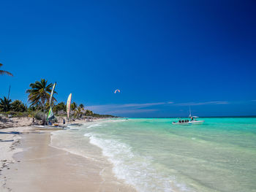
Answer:
[[(50, 131), (0, 131), (0, 191), (135, 191), (97, 163), (50, 147)], [(109, 180), (102, 179), (102, 171)]]

